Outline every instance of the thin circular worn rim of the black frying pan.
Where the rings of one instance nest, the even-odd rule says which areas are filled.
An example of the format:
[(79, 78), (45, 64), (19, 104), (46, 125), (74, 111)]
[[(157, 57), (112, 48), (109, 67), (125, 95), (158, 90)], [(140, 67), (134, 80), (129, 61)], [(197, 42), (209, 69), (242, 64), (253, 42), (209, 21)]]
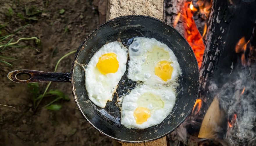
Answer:
[(74, 57), (74, 61), (72, 63), (72, 69), (71, 69), (71, 87), (72, 87), (72, 94), (73, 94), (73, 97), (74, 97), (74, 100), (75, 100), (75, 103), (77, 105), (77, 108), (79, 109), (79, 111), (81, 112), (82, 116), (84, 119), (86, 119), (86, 121), (93, 127), (95, 128), (99, 133), (105, 135), (105, 136), (108, 136), (109, 138), (112, 138), (114, 140), (118, 140), (120, 142), (124, 142), (124, 143), (146, 143), (146, 142), (150, 142), (150, 141), (153, 141), (153, 140), (157, 140), (157, 139), (160, 139), (168, 134), (170, 134), (171, 132), (173, 132), (175, 129), (177, 129), (185, 120), (186, 118), (191, 114), (192, 112), (192, 109), (193, 109), (193, 105), (195, 104), (195, 101), (196, 99), (198, 98), (198, 93), (199, 93), (199, 86), (200, 86), (200, 73), (199, 73), (199, 66), (198, 66), (198, 63), (196, 62), (196, 68), (197, 68), (197, 75), (198, 75), (198, 86), (197, 86), (197, 92), (195, 94), (195, 100), (193, 102), (193, 105), (190, 107), (189, 111), (187, 112), (187, 114), (184, 116), (184, 118), (181, 120), (181, 122), (179, 122), (179, 124), (177, 124), (175, 126), (175, 128), (171, 129), (169, 132), (161, 135), (161, 136), (158, 136), (156, 138), (152, 138), (152, 139), (149, 139), (149, 140), (140, 140), (140, 141), (129, 141), (129, 140), (122, 140), (122, 139), (118, 139), (118, 138), (115, 138), (115, 137), (112, 137), (112, 136), (109, 136), (108, 134), (105, 134), (103, 131), (101, 131), (100, 129), (98, 129), (97, 127), (95, 127), (89, 120), (88, 118), (84, 115), (84, 113), (82, 112), (81, 108), (80, 108), (80, 105), (78, 104), (78, 101), (77, 101), (77, 96), (75, 95), (75, 88), (74, 88), (74, 80), (73, 80), (73, 77), (74, 77), (74, 67), (75, 67), (75, 64), (76, 64), (76, 60), (77, 60), (77, 57), (78, 57), (78, 54), (80, 53), (80, 50), (81, 48), (83, 47), (84, 43), (86, 43), (86, 41), (88, 40), (88, 38), (93, 35), (99, 28), (101, 28), (102, 26), (110, 23), (111, 21), (115, 21), (115, 20), (118, 20), (118, 19), (123, 19), (123, 18), (131, 18), (131, 17), (144, 17), (144, 18), (147, 18), (147, 19), (153, 19), (153, 20), (156, 20), (156, 21), (159, 21), (165, 25), (167, 25), (168, 27), (171, 27), (176, 33), (179, 34), (180, 37), (183, 38), (183, 40), (185, 40), (187, 46), (189, 46), (189, 49), (191, 51), (191, 53), (193, 54), (192, 56), (195, 58), (196, 60), (196, 57), (195, 57), (195, 53), (193, 52), (191, 46), (189, 45), (189, 43), (187, 42), (187, 40), (181, 35), (181, 33), (179, 33), (175, 28), (173, 28), (173, 26), (170, 26), (169, 24), (167, 24), (166, 22), (160, 20), (160, 19), (157, 19), (157, 18), (154, 18), (154, 17), (150, 17), (150, 16), (145, 16), (145, 15), (127, 15), (127, 16), (120, 16), (120, 17), (116, 17), (114, 19), (111, 19), (109, 21), (106, 21), (104, 24), (101, 24), (99, 27), (97, 27), (95, 30), (92, 31), (92, 33), (90, 33), (86, 39), (84, 39), (84, 41), (82, 42), (82, 44), (79, 46), (79, 48), (77, 49), (77, 52), (75, 54), (75, 57)]

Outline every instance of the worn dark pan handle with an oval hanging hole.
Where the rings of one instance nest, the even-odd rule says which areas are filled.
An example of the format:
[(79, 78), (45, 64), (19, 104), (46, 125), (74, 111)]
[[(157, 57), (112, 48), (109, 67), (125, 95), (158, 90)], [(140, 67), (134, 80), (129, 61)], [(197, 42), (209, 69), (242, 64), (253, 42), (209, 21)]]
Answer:
[[(19, 79), (19, 75), (29, 75), (28, 79)], [(44, 72), (34, 70), (16, 70), (8, 73), (8, 78), (17, 83), (35, 83), (35, 82), (71, 82), (70, 73)]]

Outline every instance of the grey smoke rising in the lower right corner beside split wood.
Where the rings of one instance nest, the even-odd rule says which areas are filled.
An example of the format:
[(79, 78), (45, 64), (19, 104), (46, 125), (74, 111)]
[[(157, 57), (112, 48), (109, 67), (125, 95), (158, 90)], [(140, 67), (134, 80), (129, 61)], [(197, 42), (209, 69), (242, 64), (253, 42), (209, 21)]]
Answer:
[[(220, 106), (226, 112), (227, 125), (225, 140), (229, 145), (256, 145), (256, 65), (237, 66), (228, 75), (227, 82), (217, 96)], [(225, 79), (224, 79), (225, 80)], [(244, 92), (243, 92), (244, 91)], [(234, 119), (234, 114), (237, 118)], [(233, 119), (232, 119), (233, 118)]]

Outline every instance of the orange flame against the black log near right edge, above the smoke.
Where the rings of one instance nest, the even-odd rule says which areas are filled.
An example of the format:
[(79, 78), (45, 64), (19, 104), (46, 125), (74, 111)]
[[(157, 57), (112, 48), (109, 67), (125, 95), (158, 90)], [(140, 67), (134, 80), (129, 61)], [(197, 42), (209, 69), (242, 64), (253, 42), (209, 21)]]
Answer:
[(247, 61), (245, 59), (245, 51), (247, 49), (247, 44), (250, 42), (250, 40), (248, 40), (246, 42), (245, 37), (242, 37), (241, 39), (239, 39), (239, 41), (237, 42), (237, 45), (235, 47), (235, 51), (236, 53), (243, 53), (241, 56), (241, 61), (242, 61), (242, 65), (246, 66)]

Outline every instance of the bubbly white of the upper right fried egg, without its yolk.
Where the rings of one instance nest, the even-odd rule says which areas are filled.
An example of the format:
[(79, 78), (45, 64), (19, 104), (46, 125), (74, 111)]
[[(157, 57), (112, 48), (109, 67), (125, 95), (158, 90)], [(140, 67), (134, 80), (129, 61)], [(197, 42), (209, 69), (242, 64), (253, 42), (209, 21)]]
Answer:
[[(169, 57), (161, 57), (154, 54), (154, 46), (163, 48), (169, 53)], [(151, 58), (150, 58), (151, 57)], [(129, 46), (129, 62), (128, 62), (128, 78), (133, 81), (143, 81), (145, 84), (165, 83), (160, 77), (154, 74), (154, 67), (159, 61), (166, 60), (171, 62), (173, 73), (171, 79), (166, 82), (175, 82), (180, 74), (180, 67), (177, 57), (173, 51), (164, 43), (159, 42), (154, 38), (136, 37), (133, 43)]]

